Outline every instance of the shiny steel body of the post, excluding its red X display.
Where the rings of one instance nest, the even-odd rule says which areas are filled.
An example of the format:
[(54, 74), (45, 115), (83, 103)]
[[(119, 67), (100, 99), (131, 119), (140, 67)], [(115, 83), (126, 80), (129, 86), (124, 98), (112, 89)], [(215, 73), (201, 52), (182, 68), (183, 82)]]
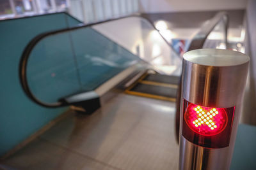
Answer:
[[(184, 54), (179, 169), (229, 169), (249, 61), (247, 55), (232, 50), (200, 49)], [(220, 148), (199, 146), (195, 139), (191, 142), (184, 137), (182, 133), (184, 100), (211, 108), (235, 108), (227, 146)], [(196, 139), (200, 138), (199, 135)]]

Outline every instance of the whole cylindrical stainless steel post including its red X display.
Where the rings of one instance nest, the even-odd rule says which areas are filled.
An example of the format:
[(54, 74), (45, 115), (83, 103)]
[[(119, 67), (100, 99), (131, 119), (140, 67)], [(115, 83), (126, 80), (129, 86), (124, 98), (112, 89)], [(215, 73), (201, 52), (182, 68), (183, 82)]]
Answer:
[(229, 169), (249, 61), (232, 50), (184, 54), (179, 169)]

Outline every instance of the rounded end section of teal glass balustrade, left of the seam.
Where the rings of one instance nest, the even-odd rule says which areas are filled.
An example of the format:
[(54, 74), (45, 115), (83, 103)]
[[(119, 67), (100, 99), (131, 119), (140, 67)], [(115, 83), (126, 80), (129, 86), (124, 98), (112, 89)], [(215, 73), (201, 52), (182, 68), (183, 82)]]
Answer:
[(47, 103), (76, 93), (80, 86), (75, 64), (68, 33), (42, 39), (29, 57), (31, 92)]

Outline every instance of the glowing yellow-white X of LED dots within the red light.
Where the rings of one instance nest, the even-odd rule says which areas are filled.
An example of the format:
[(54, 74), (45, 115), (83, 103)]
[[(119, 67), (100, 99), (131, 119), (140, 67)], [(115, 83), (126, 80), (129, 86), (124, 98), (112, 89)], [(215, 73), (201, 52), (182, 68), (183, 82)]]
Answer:
[(217, 125), (212, 121), (212, 118), (219, 114), (216, 108), (212, 108), (212, 110), (207, 111), (203, 110), (200, 106), (197, 106), (196, 108), (193, 108), (193, 110), (195, 110), (198, 115), (198, 118), (193, 121), (195, 127), (208, 125), (211, 130), (217, 128)]

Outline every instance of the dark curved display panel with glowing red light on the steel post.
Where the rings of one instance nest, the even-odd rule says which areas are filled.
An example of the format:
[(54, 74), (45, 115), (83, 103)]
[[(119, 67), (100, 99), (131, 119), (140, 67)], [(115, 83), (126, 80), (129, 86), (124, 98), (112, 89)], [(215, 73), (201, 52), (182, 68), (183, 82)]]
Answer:
[(234, 109), (205, 107), (184, 99), (182, 136), (208, 148), (228, 146)]

